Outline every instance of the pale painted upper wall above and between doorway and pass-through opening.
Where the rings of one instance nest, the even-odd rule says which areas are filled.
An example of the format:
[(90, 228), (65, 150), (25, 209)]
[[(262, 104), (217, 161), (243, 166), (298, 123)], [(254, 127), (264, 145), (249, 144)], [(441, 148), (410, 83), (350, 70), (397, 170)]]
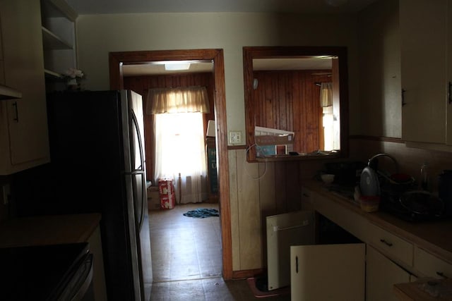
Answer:
[[(349, 47), (350, 102), (357, 102), (355, 16), (265, 13), (142, 13), (86, 15), (77, 20), (78, 65), (90, 90), (109, 88), (109, 51), (223, 49), (228, 130), (242, 130), (242, 47), (315, 45)], [(351, 115), (357, 116), (351, 110)], [(359, 128), (357, 121), (351, 121)]]

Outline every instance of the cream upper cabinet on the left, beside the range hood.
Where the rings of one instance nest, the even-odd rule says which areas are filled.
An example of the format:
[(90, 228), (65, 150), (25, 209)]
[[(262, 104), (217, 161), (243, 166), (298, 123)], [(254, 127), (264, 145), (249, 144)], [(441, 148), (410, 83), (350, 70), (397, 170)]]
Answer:
[(0, 175), (49, 161), (39, 0), (0, 0), (4, 84), (22, 98), (0, 101)]

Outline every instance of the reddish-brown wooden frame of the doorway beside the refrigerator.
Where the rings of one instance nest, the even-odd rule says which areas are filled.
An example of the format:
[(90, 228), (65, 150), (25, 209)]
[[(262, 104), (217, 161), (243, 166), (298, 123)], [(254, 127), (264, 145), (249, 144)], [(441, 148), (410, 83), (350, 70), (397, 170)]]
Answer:
[(123, 64), (147, 61), (212, 60), (214, 75), (214, 111), (217, 128), (218, 185), (220, 193), (220, 226), (222, 240), (222, 277), (232, 279), (232, 234), (229, 197), (229, 164), (227, 159), (227, 123), (225, 96), (225, 63), (222, 49), (187, 49), (124, 51), (109, 53), (109, 78), (112, 90), (124, 89)]

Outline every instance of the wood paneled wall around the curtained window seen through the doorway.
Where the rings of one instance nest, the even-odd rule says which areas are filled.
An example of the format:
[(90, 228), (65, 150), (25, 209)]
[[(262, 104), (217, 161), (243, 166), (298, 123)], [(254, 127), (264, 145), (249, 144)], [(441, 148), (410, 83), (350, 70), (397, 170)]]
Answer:
[[(190, 87), (204, 86), (207, 88), (210, 113), (204, 114), (204, 133), (207, 131), (207, 123), (214, 120), (213, 107), (213, 73), (180, 73), (172, 75), (148, 75), (148, 76), (131, 76), (124, 78), (124, 89), (133, 90), (143, 96), (143, 106), (147, 104), (148, 90), (153, 88), (165, 87)], [(146, 154), (146, 177), (148, 180), (154, 179), (154, 130), (153, 115), (145, 114), (145, 154)], [(181, 149), (181, 152), (183, 150)]]

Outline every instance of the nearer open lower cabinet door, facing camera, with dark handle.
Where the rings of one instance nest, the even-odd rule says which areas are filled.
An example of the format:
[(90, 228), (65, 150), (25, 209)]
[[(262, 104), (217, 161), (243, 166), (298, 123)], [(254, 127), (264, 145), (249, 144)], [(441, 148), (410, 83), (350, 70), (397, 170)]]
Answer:
[(292, 300), (364, 300), (364, 252), (362, 243), (290, 247)]

